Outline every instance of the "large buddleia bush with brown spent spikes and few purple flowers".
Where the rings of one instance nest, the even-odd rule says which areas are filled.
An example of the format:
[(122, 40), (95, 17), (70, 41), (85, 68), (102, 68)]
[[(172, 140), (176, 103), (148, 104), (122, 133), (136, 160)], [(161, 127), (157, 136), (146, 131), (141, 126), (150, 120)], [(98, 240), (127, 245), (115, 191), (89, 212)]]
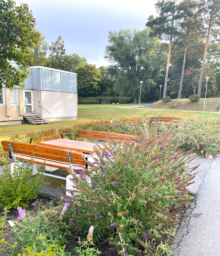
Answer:
[(73, 197), (66, 197), (71, 203), (61, 217), (72, 222), (73, 235), (93, 225), (94, 241), (108, 238), (121, 255), (152, 253), (179, 222), (174, 210), (189, 203), (196, 167), (188, 166), (176, 138), (154, 128), (143, 130), (137, 143), (109, 144), (108, 151), (96, 150), (88, 168), (72, 174)]

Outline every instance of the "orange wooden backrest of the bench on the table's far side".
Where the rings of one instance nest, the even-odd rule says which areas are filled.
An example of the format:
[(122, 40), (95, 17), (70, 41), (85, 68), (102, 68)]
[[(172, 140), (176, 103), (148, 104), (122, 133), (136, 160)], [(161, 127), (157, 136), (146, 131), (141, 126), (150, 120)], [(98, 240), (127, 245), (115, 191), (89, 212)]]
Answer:
[[(116, 132), (110, 132), (110, 134), (115, 142), (122, 142), (124, 139), (136, 140), (135, 135), (121, 134)], [(84, 139), (98, 139), (104, 141), (110, 140), (110, 136), (106, 131), (77, 130), (77, 137)]]

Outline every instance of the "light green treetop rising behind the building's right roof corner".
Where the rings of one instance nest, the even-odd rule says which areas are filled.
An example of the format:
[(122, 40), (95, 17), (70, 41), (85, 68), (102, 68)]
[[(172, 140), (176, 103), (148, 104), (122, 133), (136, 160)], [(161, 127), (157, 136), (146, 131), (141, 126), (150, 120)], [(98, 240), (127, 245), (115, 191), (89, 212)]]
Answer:
[(77, 53), (66, 54), (64, 57), (64, 70), (73, 72), (73, 70), (80, 65), (86, 65), (87, 59), (80, 57)]

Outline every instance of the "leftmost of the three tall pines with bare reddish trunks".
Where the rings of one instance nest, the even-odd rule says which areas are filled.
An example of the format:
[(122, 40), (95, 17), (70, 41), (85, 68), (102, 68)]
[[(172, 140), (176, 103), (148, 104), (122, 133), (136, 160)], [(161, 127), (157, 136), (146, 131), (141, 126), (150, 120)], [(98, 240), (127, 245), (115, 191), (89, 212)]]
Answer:
[(173, 37), (176, 36), (178, 31), (177, 22), (182, 19), (183, 13), (179, 12), (178, 0), (160, 0), (156, 4), (157, 12), (159, 16), (154, 18), (150, 16), (148, 22), (146, 23), (147, 27), (152, 28), (152, 35), (164, 36), (165, 39), (169, 38), (169, 53), (166, 66), (166, 75), (164, 82), (164, 92), (163, 98), (166, 97), (167, 92), (167, 81), (169, 73), (169, 62), (171, 54), (171, 45)]

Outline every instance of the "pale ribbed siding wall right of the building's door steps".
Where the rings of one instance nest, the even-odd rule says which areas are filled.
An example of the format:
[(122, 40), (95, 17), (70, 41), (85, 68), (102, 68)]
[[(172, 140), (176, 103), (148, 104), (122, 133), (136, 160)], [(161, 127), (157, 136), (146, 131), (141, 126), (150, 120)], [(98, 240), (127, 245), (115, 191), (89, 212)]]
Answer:
[(77, 93), (46, 90), (40, 93), (42, 107), (51, 112), (49, 120), (77, 118)]

